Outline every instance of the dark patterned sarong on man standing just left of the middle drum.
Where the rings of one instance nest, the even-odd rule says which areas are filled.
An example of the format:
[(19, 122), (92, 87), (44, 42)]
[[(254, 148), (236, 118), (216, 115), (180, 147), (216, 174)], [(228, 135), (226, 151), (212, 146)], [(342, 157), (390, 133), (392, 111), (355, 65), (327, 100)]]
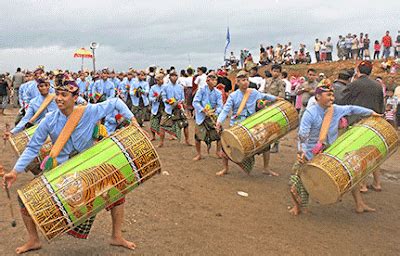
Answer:
[(196, 124), (194, 138), (196, 141), (204, 141), (207, 144), (207, 150), (211, 148), (211, 142), (219, 141), (220, 136), (215, 129), (216, 116), (206, 116), (203, 123)]

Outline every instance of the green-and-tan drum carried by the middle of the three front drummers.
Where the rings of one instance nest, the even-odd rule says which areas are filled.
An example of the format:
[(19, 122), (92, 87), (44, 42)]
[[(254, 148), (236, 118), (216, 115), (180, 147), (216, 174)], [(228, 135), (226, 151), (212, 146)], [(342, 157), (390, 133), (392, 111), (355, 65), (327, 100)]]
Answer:
[(292, 104), (277, 101), (257, 111), (221, 134), (222, 147), (235, 162), (253, 156), (283, 137), (299, 124), (299, 115)]

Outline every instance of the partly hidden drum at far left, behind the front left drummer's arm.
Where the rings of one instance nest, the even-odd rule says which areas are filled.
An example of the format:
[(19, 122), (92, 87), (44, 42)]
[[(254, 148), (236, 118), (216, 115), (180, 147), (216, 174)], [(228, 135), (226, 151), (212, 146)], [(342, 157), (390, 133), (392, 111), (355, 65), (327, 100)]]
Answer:
[[(37, 125), (32, 126), (26, 130), (23, 130), (17, 134), (10, 136), (10, 144), (14, 151), (17, 153), (18, 156), (24, 152), (26, 145), (28, 145), (29, 141), (31, 140), (33, 134), (35, 133)], [(32, 163), (26, 167), (25, 171), (30, 171), (33, 174), (37, 175), (40, 173), (40, 163), (42, 160), (49, 155), (51, 150), (52, 144), (50, 138), (46, 140), (45, 144), (39, 151), (38, 157), (36, 157)]]

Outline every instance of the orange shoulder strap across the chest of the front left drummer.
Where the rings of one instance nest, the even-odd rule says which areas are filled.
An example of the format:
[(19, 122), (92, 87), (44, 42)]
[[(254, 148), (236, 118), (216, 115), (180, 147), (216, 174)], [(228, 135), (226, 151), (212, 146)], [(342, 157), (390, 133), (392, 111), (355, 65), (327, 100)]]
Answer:
[(74, 132), (76, 126), (78, 125), (79, 121), (81, 120), (83, 113), (85, 112), (85, 109), (86, 106), (77, 106), (74, 108), (74, 110), (72, 111), (71, 115), (67, 120), (67, 123), (61, 130), (60, 135), (58, 136), (56, 142), (51, 148), (49, 154), (50, 157), (55, 159), (60, 154), (61, 150), (64, 148), (65, 144), (67, 143), (72, 133)]

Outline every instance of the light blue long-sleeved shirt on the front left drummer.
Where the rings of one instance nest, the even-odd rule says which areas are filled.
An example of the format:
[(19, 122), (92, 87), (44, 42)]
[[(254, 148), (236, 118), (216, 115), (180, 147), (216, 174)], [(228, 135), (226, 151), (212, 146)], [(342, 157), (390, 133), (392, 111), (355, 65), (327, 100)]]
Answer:
[[(57, 162), (63, 163), (68, 160), (72, 152), (82, 152), (91, 147), (94, 142), (92, 136), (93, 129), (97, 122), (108, 114), (113, 113), (114, 110), (117, 110), (118, 113), (121, 113), (127, 119), (133, 117), (132, 112), (120, 99), (109, 99), (102, 103), (87, 105), (77, 127), (57, 157)], [(15, 164), (14, 169), (18, 173), (23, 172), (28, 164), (38, 155), (40, 148), (48, 136), (50, 136), (54, 144), (67, 120), (68, 118), (59, 109), (47, 114), (39, 123), (32, 139)]]

